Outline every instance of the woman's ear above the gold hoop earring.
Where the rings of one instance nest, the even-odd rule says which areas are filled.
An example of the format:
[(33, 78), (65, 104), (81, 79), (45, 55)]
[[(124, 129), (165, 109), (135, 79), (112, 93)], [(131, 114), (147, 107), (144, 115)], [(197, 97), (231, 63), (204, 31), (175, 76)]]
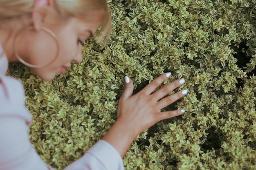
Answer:
[(35, 0), (32, 11), (32, 21), (35, 31), (40, 30), (49, 9), (54, 7), (53, 0)]

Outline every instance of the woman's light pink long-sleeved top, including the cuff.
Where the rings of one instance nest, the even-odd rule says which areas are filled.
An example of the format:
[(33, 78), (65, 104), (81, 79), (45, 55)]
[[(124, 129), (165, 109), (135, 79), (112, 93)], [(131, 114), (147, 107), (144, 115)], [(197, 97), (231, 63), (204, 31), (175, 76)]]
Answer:
[[(7, 57), (0, 46), (0, 170), (53, 170), (29, 141), (31, 115), (25, 108), (25, 92), (15, 78), (6, 76)], [(124, 170), (119, 152), (100, 140), (64, 170)]]

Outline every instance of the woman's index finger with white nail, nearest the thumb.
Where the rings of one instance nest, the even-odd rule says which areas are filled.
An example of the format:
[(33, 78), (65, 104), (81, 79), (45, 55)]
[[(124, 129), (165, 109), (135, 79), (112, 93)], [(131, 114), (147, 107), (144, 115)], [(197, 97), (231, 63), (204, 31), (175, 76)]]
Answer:
[(171, 76), (171, 73), (164, 73), (150, 82), (145, 88), (141, 90), (141, 93), (150, 95), (157, 87), (159, 87), (165, 80)]

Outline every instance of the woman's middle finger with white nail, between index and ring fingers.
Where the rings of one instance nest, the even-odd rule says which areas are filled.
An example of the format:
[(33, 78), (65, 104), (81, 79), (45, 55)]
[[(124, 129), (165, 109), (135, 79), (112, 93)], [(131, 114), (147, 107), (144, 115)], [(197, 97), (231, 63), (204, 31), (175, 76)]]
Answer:
[(175, 88), (182, 86), (184, 84), (184, 79), (177, 79), (174, 82), (171, 82), (170, 84), (167, 84), (166, 86), (162, 87), (158, 91), (152, 94), (152, 97), (159, 100), (162, 97), (166, 96), (168, 93), (173, 91)]

